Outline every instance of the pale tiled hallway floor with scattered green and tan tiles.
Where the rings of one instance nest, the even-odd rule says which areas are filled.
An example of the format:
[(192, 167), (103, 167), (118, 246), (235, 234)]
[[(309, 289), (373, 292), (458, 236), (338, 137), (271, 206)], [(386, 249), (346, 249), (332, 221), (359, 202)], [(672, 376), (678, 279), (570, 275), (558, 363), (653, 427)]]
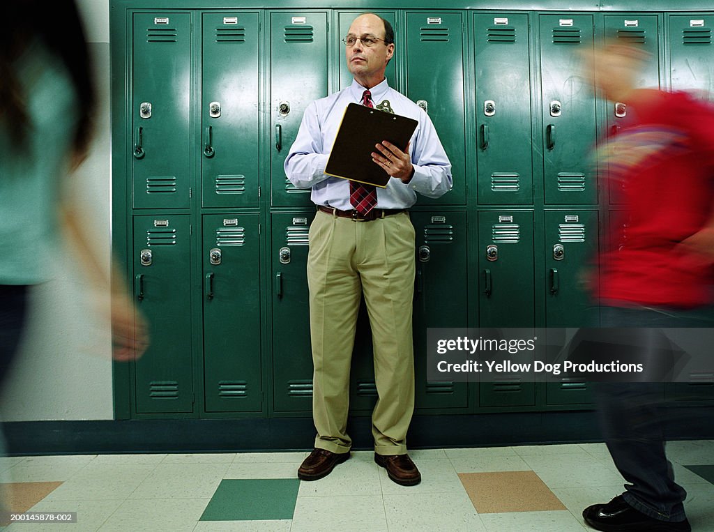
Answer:
[[(714, 441), (668, 455), (695, 531), (714, 531)], [(622, 491), (602, 443), (413, 451), (418, 486), (398, 486), (356, 451), (301, 482), (307, 453), (0, 458), (14, 511), (76, 511), (77, 523), (7, 531), (583, 531), (580, 512)]]

